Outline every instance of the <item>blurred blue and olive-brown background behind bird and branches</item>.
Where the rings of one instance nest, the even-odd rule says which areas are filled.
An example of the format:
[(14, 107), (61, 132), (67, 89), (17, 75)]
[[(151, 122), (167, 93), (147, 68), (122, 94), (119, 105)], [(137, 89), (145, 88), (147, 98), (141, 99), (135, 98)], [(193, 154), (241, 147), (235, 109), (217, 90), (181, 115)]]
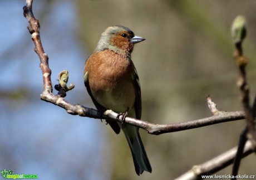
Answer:
[[(24, 5), (0, 2), (0, 170), (38, 174), (39, 179), (174, 179), (237, 145), (243, 120), (159, 136), (140, 130), (152, 173), (137, 176), (123, 133), (117, 136), (105, 121), (72, 116), (40, 100), (40, 61)], [(68, 70), (76, 86), (66, 100), (73, 104), (95, 108), (83, 85), (83, 65), (107, 27), (124, 25), (146, 38), (132, 53), (142, 120), (170, 124), (211, 116), (208, 95), (221, 111), (242, 110), (230, 38), (239, 14), (247, 18), (244, 53), (255, 95), (254, 0), (47, 0), (35, 1), (33, 12), (40, 20), (52, 83)], [(239, 174), (255, 174), (255, 163), (255, 155), (244, 158)], [(217, 174), (230, 174), (231, 168)]]

